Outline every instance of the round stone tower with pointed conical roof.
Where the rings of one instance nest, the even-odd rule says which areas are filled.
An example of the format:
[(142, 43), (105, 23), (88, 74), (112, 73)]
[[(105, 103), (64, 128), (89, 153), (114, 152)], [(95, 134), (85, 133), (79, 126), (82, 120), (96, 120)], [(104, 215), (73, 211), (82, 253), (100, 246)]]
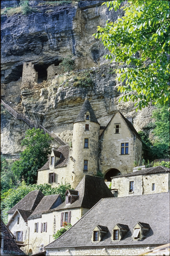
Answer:
[(99, 129), (92, 106), (86, 99), (73, 127), (74, 187), (84, 174), (97, 173)]

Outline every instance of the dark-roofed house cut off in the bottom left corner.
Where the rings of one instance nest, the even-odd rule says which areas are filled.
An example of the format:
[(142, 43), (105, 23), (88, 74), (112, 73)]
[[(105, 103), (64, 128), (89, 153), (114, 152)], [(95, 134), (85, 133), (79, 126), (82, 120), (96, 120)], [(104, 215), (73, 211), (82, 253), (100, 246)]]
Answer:
[(16, 237), (1, 220), (0, 226), (0, 255), (25, 255), (15, 241)]

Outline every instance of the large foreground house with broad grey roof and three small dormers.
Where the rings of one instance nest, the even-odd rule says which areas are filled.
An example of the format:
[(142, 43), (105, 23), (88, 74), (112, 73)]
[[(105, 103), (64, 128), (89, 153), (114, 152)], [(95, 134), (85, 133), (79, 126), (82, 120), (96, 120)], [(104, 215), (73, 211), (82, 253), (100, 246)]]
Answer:
[(135, 255), (169, 243), (169, 193), (101, 199), (62, 236), (51, 255)]

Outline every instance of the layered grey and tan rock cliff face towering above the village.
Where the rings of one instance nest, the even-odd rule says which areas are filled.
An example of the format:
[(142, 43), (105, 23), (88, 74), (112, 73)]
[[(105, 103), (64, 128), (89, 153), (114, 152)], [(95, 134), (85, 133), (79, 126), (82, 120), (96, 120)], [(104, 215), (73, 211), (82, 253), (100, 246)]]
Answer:
[[(34, 7), (38, 2), (43, 1), (30, 1)], [(28, 16), (17, 14), (2, 17), (1, 82), (4, 101), (35, 123), (55, 132), (65, 142), (72, 140), (73, 122), (86, 95), (101, 126), (107, 125), (117, 109), (125, 117), (134, 118), (137, 130), (150, 122), (152, 106), (136, 112), (133, 102), (119, 103), (120, 94), (113, 72), (117, 64), (110, 65), (103, 59), (106, 50), (92, 37), (98, 25), (104, 26), (108, 18), (115, 20), (121, 15), (120, 11), (108, 12), (101, 2), (36, 5), (37, 12)], [(46, 80), (47, 68), (52, 64), (58, 66), (68, 55), (73, 56), (75, 68), (95, 69)], [(23, 88), (20, 77), (23, 62), (26, 61), (34, 65), (39, 81), (46, 81)], [(82, 82), (83, 79), (91, 80), (91, 85), (75, 84), (75, 81)], [(1, 151), (7, 156), (18, 157), (18, 153), (23, 150), (20, 141), (29, 127), (19, 123), (10, 114), (3, 113), (2, 117)]]

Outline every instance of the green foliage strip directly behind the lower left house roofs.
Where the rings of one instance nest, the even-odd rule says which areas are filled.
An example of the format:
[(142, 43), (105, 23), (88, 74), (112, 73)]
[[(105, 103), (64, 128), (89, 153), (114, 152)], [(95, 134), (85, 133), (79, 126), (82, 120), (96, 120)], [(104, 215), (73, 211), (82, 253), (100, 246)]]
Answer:
[(5, 198), (1, 200), (2, 217), (5, 223), (7, 223), (7, 211), (14, 207), (14, 205), (24, 198), (30, 191), (36, 189), (41, 190), (44, 196), (60, 194), (64, 201), (64, 194), (67, 189), (71, 189), (71, 185), (68, 183), (61, 183), (58, 187), (51, 187), (50, 184), (46, 183), (40, 185), (27, 185), (25, 181), (22, 181), (17, 189), (9, 189), (6, 192)]

